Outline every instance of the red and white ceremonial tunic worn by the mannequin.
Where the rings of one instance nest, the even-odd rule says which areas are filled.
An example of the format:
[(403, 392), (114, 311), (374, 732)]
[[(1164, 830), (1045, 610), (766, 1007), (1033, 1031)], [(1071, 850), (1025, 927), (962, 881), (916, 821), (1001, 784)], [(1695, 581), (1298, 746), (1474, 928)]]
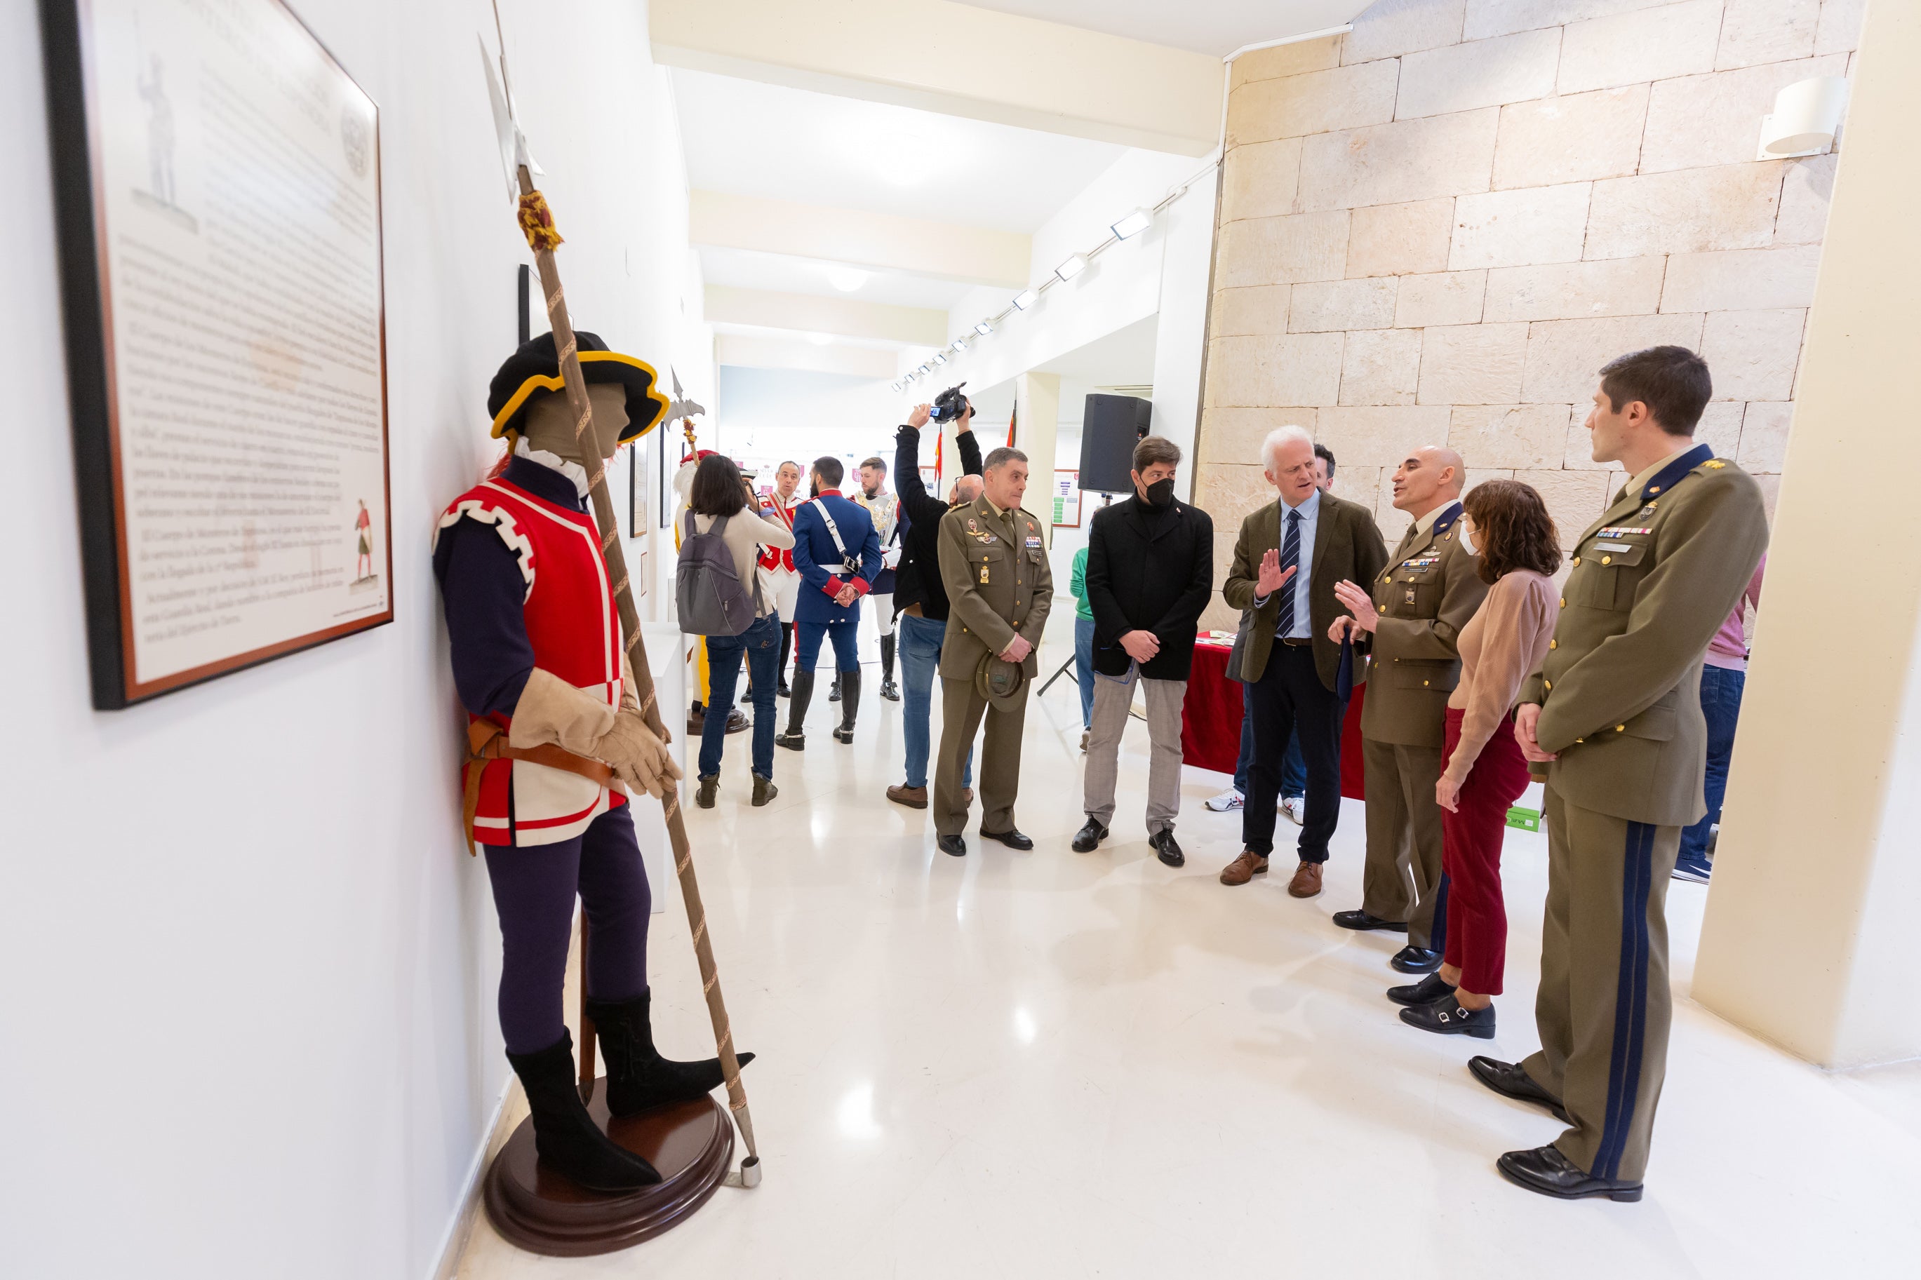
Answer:
[[(486, 480), (446, 509), (434, 539), (463, 518), (492, 526), (519, 560), (534, 666), (619, 708), (620, 616), (594, 516), (544, 501), (507, 480)], [(501, 727), (511, 723), (501, 712), (486, 718)], [(469, 712), (469, 720), (478, 716)], [(474, 814), (480, 844), (557, 844), (584, 833), (609, 808), (626, 804), (626, 796), (588, 777), (530, 760), (486, 760), (465, 768), (484, 770)]]

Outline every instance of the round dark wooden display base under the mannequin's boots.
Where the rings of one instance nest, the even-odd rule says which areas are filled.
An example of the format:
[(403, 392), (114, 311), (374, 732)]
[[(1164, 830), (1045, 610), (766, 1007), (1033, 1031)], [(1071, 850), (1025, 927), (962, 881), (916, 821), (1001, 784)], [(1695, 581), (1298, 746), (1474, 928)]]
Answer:
[(651, 1240), (715, 1194), (734, 1163), (734, 1125), (713, 1098), (607, 1117), (607, 1077), (594, 1082), (588, 1111), (607, 1136), (661, 1171), (661, 1182), (628, 1194), (590, 1192), (540, 1163), (534, 1121), (507, 1138), (486, 1171), (486, 1215), (494, 1230), (532, 1253), (586, 1257)]

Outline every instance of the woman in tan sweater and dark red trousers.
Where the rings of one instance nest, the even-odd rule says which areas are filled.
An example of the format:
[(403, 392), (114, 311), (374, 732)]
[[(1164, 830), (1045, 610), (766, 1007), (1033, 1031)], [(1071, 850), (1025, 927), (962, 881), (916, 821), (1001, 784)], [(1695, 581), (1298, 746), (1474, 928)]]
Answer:
[(1387, 992), (1400, 1021), (1422, 1031), (1489, 1038), (1508, 960), (1500, 898), (1500, 844), (1527, 789), (1514, 741), (1514, 699), (1554, 635), (1560, 539), (1541, 495), (1518, 480), (1489, 480), (1464, 501), (1462, 537), (1481, 553), (1493, 583), (1460, 631), (1460, 683), (1447, 702), (1447, 739), (1435, 802), (1447, 889), (1447, 954), (1439, 973)]

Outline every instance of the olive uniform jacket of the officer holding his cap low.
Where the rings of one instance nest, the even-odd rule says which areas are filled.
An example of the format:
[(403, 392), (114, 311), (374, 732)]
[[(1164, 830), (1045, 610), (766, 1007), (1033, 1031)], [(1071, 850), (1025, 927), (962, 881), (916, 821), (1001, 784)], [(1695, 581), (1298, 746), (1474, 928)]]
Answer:
[(941, 639), (941, 679), (974, 679), (980, 660), (1003, 652), (1024, 635), (1033, 651), (1022, 668), (1039, 672), (1041, 633), (1055, 601), (1039, 516), (976, 497), (941, 516), (941, 581), (947, 585), (947, 633)]

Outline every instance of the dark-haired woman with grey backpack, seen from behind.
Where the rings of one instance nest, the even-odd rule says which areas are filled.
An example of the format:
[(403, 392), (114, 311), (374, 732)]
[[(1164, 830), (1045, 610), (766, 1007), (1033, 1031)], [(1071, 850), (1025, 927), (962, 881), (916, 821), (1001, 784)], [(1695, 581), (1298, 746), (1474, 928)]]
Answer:
[[(772, 597), (759, 591), (755, 566), (763, 547), (786, 551), (793, 547), (793, 532), (778, 516), (763, 516), (747, 507), (747, 484), (734, 459), (718, 453), (701, 459), (688, 495), (688, 537), (682, 543), (682, 562), (697, 535), (713, 533), (718, 524), (720, 541), (734, 558), (738, 585), (747, 593), (753, 620), (738, 635), (707, 631), (707, 716), (701, 722), (699, 789), (693, 802), (715, 806), (720, 791), (720, 747), (726, 743), (726, 722), (734, 714), (734, 685), (740, 681), (742, 656), (753, 683), (753, 804), (774, 798), (774, 689), (780, 683), (780, 612)], [(738, 626), (738, 624), (736, 624)]]

